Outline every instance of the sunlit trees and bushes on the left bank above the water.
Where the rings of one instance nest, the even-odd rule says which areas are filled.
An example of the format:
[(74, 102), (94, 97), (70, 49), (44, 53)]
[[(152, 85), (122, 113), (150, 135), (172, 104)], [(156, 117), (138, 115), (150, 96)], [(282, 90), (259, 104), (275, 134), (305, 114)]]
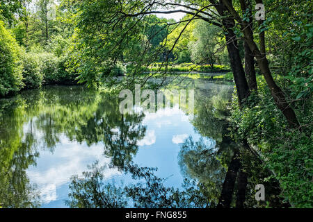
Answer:
[[(36, 10), (33, 14), (30, 3), (28, 0), (17, 1), (17, 8), (3, 9), (7, 13), (16, 12), (19, 19), (8, 19), (8, 14), (1, 14), (0, 17), (5, 21), (0, 21), (1, 96), (21, 89), (39, 88), (44, 84), (77, 82), (77, 75), (66, 70), (70, 39), (69, 33), (61, 30), (65, 28), (64, 22), (49, 21), (47, 15), (42, 17), (42, 10), (52, 1), (35, 1)], [(10, 4), (5, 3), (5, 6)], [(1, 7), (3, 8), (2, 3)], [(51, 35), (48, 33), (48, 38), (47, 35), (46, 38), (42, 37), (49, 31)]]

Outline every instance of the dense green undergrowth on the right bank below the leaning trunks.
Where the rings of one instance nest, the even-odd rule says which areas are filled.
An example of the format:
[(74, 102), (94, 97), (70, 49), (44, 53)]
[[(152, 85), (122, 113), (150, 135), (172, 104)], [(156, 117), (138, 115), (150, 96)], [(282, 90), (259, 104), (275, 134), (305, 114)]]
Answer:
[(284, 200), (293, 207), (313, 207), (312, 112), (310, 117), (306, 114), (312, 105), (295, 109), (305, 126), (302, 131), (289, 129), (264, 80), (258, 86), (258, 94), (251, 94), (243, 108), (239, 108), (234, 96), (232, 137), (248, 139), (262, 153), (266, 167), (274, 173), (272, 177), (280, 182)]

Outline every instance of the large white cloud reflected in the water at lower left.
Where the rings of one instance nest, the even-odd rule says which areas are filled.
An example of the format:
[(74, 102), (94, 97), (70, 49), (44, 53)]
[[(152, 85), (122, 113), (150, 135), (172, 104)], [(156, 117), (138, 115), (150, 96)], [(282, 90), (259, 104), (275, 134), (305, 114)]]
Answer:
[[(58, 147), (59, 146), (59, 147)], [(40, 152), (40, 159), (36, 167), (28, 171), (32, 183), (38, 186), (42, 201), (49, 203), (57, 200), (57, 189), (66, 186), (71, 176), (82, 176), (83, 171), (88, 171), (87, 166), (99, 160), (99, 164), (109, 164), (110, 158), (103, 155), (103, 144), (88, 147), (86, 144), (70, 142), (61, 137), (61, 145), (56, 145), (54, 153)], [(106, 169), (105, 178), (120, 174), (117, 169)], [(62, 188), (63, 189), (63, 188)]]

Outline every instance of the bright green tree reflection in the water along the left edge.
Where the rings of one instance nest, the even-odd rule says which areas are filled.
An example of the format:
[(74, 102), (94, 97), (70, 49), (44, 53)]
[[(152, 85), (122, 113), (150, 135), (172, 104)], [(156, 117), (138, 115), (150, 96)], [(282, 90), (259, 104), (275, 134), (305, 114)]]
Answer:
[(38, 206), (38, 194), (26, 176), (26, 169), (35, 164), (38, 152), (33, 148), (33, 135), (24, 135), (21, 130), (21, 106), (19, 97), (0, 103), (0, 207)]

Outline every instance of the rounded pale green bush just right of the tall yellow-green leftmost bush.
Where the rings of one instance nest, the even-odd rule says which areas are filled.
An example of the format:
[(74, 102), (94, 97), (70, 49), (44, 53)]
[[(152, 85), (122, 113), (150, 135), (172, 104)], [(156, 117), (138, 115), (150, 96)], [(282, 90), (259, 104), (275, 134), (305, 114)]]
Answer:
[(39, 88), (42, 85), (43, 75), (41, 72), (41, 62), (35, 53), (25, 53), (23, 55), (23, 77), (26, 89)]

